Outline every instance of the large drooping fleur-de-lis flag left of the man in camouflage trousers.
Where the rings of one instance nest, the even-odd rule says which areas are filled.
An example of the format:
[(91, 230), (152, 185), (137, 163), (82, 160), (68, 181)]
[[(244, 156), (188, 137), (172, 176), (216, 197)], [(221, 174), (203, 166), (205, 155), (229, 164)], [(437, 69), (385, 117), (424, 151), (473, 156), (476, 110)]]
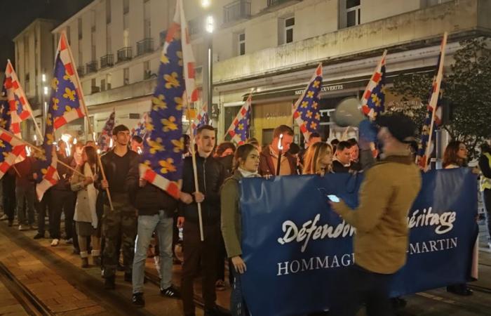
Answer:
[(81, 87), (76, 74), (65, 32), (60, 36), (55, 60), (55, 72), (51, 81), (51, 96), (46, 114), (46, 129), (43, 140), (43, 157), (39, 164), (36, 192), (41, 200), (44, 192), (58, 182), (57, 157), (53, 150), (55, 131), (61, 126), (85, 116)]

